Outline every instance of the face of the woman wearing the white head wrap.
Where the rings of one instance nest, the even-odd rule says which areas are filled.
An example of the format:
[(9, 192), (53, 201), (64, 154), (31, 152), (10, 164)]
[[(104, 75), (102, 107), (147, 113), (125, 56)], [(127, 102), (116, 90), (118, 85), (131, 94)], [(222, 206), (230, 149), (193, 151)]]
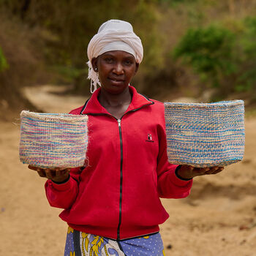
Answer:
[(111, 94), (120, 94), (127, 89), (139, 67), (135, 57), (123, 50), (102, 53), (91, 63), (94, 69), (98, 69), (102, 89)]

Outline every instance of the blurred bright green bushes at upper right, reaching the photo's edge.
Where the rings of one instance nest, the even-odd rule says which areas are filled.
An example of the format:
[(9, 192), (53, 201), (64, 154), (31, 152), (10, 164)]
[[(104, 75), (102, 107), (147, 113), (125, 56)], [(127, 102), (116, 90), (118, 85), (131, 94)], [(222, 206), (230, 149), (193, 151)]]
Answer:
[(173, 52), (204, 83), (216, 87), (222, 97), (232, 92), (255, 94), (256, 18), (246, 18), (241, 23), (238, 31), (212, 25), (188, 29)]

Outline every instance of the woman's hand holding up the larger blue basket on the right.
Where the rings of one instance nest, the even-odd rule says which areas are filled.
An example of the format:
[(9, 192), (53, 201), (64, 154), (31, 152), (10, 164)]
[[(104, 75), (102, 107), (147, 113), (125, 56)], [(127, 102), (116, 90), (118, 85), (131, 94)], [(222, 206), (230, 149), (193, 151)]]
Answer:
[(224, 169), (222, 166), (213, 166), (213, 167), (193, 167), (191, 165), (181, 165), (178, 169), (177, 174), (181, 178), (189, 179), (194, 178), (195, 176), (202, 176), (208, 174), (217, 174)]

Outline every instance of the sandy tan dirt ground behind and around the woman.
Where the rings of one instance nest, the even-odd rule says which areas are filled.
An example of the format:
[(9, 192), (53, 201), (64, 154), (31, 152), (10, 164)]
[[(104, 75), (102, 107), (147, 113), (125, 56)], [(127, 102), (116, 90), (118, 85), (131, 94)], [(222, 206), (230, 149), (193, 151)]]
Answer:
[[(47, 112), (67, 113), (81, 97), (27, 89)], [(197, 177), (189, 197), (162, 200), (170, 214), (161, 226), (167, 256), (256, 255), (256, 118), (246, 118), (244, 160), (216, 176)], [(64, 253), (66, 223), (45, 197), (45, 179), (19, 162), (19, 120), (0, 121), (0, 255)]]

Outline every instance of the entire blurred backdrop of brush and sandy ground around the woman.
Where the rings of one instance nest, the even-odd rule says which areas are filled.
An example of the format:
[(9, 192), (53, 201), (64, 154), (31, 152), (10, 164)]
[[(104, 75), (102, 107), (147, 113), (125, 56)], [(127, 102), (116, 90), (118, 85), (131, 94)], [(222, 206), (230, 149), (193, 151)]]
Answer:
[(132, 81), (140, 93), (246, 105), (243, 161), (195, 178), (185, 199), (162, 200), (165, 254), (256, 255), (256, 0), (0, 0), (0, 255), (63, 255), (61, 210), (48, 205), (45, 179), (19, 162), (18, 116), (83, 105), (87, 45), (113, 18), (142, 39)]

